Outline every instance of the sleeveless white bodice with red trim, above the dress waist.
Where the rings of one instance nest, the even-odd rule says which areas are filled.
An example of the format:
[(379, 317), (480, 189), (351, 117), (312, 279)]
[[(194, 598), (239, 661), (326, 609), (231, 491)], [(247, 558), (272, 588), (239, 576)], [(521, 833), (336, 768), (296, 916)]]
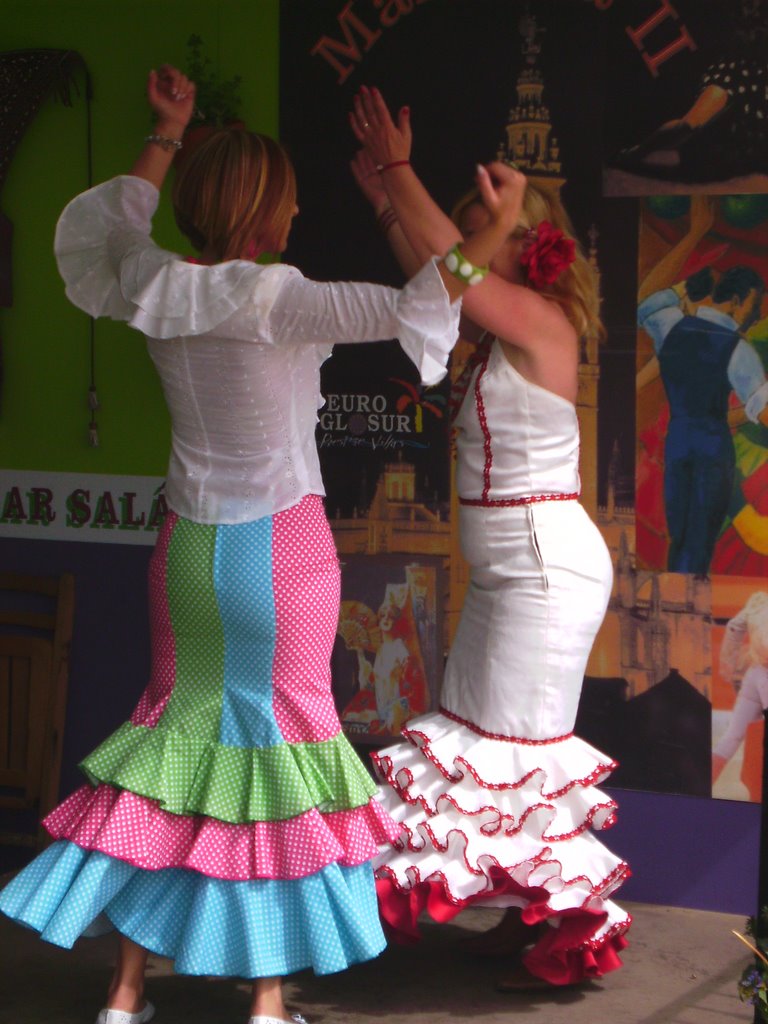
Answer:
[(580, 490), (579, 421), (565, 398), (525, 380), (495, 341), (456, 419), (460, 499)]

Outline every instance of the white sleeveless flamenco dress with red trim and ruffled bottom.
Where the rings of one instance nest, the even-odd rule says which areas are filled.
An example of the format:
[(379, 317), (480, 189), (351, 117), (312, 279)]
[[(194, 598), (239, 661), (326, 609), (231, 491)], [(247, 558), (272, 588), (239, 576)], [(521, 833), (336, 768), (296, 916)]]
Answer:
[(399, 838), (376, 861), (382, 915), (413, 939), (426, 909), (520, 907), (546, 922), (523, 957), (553, 984), (621, 966), (630, 916), (608, 896), (629, 868), (592, 835), (615, 764), (572, 733), (612, 580), (578, 503), (570, 402), (530, 384), (495, 342), (456, 421), (461, 539), (471, 566), (440, 711), (374, 758)]

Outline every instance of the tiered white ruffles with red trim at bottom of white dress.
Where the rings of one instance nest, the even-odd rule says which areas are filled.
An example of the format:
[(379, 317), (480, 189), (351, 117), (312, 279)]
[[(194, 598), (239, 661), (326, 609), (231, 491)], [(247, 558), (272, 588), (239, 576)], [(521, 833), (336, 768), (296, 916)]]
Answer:
[(630, 916), (608, 896), (630, 870), (591, 833), (615, 818), (594, 785), (612, 762), (583, 740), (478, 734), (440, 713), (379, 752), (385, 810), (400, 835), (375, 860), (382, 915), (413, 941), (426, 909), (447, 921), (474, 902), (549, 922), (525, 957), (553, 984), (620, 966)]

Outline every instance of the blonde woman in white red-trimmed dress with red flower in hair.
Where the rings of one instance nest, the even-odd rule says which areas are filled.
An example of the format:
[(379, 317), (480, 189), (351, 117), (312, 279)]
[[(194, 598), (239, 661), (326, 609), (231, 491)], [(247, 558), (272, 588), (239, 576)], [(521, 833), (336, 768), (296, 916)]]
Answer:
[[(362, 89), (355, 178), (403, 269), (486, 223), (477, 194), (452, 221), (410, 164), (411, 126)], [(471, 566), (439, 712), (375, 758), (400, 838), (377, 864), (380, 909), (416, 934), (428, 909), (508, 908), (474, 950), (508, 957), (500, 987), (574, 984), (621, 966), (629, 915), (608, 896), (627, 865), (592, 835), (615, 806), (614, 767), (572, 734), (610, 594), (605, 544), (578, 502), (580, 338), (602, 331), (591, 268), (559, 199), (516, 172), (520, 215), (464, 297), (480, 339), (457, 387), (457, 487)], [(527, 185), (527, 187), (526, 187)], [(457, 226), (458, 225), (458, 226)], [(467, 323), (467, 321), (471, 323)]]

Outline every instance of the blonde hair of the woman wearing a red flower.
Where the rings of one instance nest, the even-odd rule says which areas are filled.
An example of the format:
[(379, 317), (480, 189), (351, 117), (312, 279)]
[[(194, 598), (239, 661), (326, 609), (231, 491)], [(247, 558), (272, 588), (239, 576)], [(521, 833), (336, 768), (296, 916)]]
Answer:
[[(461, 217), (467, 208), (476, 203), (481, 203), (476, 188), (459, 200), (451, 214), (457, 226), (461, 227)], [(580, 338), (604, 338), (605, 328), (600, 319), (600, 296), (595, 271), (579, 244), (560, 197), (554, 189), (541, 188), (528, 181), (518, 227), (536, 228), (543, 220), (548, 220), (553, 227), (560, 228), (566, 239), (572, 239), (575, 245), (575, 260), (562, 271), (554, 284), (539, 289), (539, 294), (557, 302)]]

